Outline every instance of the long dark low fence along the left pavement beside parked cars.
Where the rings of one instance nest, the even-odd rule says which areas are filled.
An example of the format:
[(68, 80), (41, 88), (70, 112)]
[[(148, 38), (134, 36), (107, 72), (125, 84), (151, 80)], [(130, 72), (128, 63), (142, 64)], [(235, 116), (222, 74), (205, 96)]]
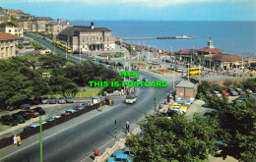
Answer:
[[(102, 102), (102, 105), (104, 105), (104, 102)], [(75, 113), (72, 113), (68, 116), (62, 116), (61, 118), (55, 119), (54, 121), (47, 122), (47, 123), (42, 125), (42, 131), (48, 130), (48, 129), (54, 127), (54, 126), (60, 125), (64, 122), (66, 122), (66, 121), (69, 121), (69, 120), (71, 120), (73, 118), (76, 118), (78, 116), (81, 116), (81, 115), (83, 115), (87, 112), (95, 110), (98, 107), (99, 107), (99, 103), (97, 103), (95, 105), (92, 105), (92, 106), (89, 106), (85, 109), (79, 110), (79, 111), (77, 111)], [(26, 132), (23, 132), (19, 135), (21, 136), (22, 139), (25, 139), (25, 138), (28, 138), (32, 135), (38, 134), (38, 133), (39, 133), (39, 127), (36, 127), (32, 130), (28, 130)], [(13, 136), (5, 137), (5, 138), (0, 139), (0, 149), (6, 147), (8, 145), (11, 145), (11, 144), (13, 144)]]

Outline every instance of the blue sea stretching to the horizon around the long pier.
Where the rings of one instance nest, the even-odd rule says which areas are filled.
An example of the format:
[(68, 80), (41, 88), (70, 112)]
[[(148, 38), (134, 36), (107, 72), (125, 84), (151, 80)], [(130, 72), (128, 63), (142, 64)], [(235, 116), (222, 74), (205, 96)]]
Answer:
[[(91, 26), (90, 21), (70, 21), (72, 26)], [(224, 54), (256, 56), (256, 22), (191, 22), (191, 21), (94, 21), (95, 27), (107, 27), (117, 38), (190, 35), (193, 39), (126, 40), (148, 47), (177, 51), (200, 49), (210, 37)]]

